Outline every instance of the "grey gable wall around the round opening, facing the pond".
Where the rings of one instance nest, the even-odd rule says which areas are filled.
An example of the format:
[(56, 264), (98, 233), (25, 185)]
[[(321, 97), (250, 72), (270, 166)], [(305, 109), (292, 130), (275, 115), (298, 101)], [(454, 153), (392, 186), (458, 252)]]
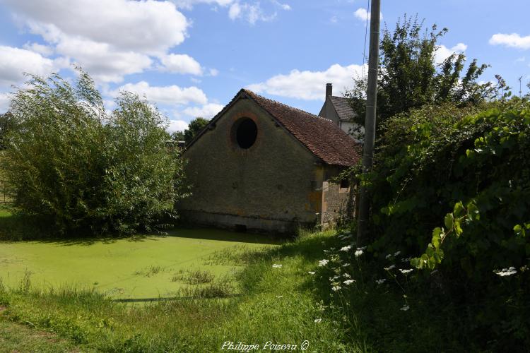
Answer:
[[(248, 149), (232, 131), (242, 118), (257, 125)], [(184, 220), (267, 232), (319, 221), (324, 166), (250, 100), (235, 102), (183, 156), (192, 184), (192, 196), (177, 205)]]

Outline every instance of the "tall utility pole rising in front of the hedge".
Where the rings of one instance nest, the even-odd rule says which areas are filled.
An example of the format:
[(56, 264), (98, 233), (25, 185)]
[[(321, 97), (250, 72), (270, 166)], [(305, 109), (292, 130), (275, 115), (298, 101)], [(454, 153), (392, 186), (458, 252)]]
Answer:
[[(368, 56), (368, 85), (366, 90), (365, 143), (363, 148), (363, 174), (374, 164), (375, 112), (377, 107), (377, 69), (379, 68), (379, 21), (381, 0), (372, 0), (370, 13), (370, 54)], [(370, 218), (370, 202), (366, 186), (360, 185), (359, 217), (357, 220), (357, 246), (367, 240), (367, 223)]]

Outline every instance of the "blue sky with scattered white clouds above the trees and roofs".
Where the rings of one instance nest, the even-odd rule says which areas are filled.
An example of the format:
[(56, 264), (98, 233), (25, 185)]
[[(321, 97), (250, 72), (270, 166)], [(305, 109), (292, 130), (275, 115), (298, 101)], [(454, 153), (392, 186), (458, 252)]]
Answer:
[[(361, 72), (368, 0), (0, 0), (0, 112), (23, 72), (71, 77), (80, 64), (107, 107), (146, 95), (183, 129), (240, 88), (317, 114)], [(447, 27), (437, 52), (490, 64), (523, 94), (530, 81), (530, 1), (382, 0), (382, 24), (404, 13)]]

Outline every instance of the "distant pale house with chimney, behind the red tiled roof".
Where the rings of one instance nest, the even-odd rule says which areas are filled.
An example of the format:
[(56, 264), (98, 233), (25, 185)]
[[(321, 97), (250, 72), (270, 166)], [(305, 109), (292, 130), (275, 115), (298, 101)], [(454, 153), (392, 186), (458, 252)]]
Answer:
[(365, 133), (364, 126), (353, 121), (356, 114), (353, 112), (348, 98), (333, 95), (331, 83), (326, 84), (326, 100), (320, 109), (319, 116), (333, 121), (356, 142), (362, 142)]

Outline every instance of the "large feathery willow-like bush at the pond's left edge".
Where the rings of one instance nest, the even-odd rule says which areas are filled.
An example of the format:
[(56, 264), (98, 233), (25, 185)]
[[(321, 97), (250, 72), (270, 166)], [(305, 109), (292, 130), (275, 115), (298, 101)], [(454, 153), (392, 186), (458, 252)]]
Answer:
[(93, 80), (72, 86), (30, 76), (11, 101), (14, 128), (1, 166), (13, 205), (62, 234), (130, 234), (175, 216), (182, 160), (167, 148), (166, 119), (129, 92), (105, 111)]

